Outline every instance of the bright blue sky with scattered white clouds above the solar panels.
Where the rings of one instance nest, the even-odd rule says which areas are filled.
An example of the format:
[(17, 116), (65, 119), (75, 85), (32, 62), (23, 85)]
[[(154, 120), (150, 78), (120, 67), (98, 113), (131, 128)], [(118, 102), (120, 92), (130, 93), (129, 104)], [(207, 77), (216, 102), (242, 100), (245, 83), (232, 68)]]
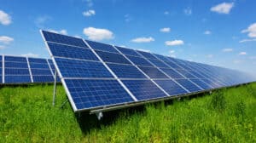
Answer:
[(256, 73), (254, 0), (0, 3), (0, 54), (48, 58), (44, 29)]

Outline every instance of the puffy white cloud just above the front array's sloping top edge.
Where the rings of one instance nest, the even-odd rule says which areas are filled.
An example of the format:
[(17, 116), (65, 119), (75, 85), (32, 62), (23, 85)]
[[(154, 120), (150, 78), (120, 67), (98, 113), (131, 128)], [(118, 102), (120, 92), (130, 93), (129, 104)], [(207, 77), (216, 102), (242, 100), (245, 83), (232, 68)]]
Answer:
[(113, 39), (113, 32), (108, 29), (87, 27), (84, 28), (84, 35), (86, 35), (90, 40), (104, 40), (104, 39)]

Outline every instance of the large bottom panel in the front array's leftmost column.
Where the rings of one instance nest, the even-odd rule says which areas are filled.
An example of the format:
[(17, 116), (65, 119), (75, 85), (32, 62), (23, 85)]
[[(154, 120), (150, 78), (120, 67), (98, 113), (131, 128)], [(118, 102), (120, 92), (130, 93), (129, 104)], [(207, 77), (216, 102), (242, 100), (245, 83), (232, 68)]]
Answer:
[(116, 80), (65, 79), (78, 109), (113, 106), (133, 101)]

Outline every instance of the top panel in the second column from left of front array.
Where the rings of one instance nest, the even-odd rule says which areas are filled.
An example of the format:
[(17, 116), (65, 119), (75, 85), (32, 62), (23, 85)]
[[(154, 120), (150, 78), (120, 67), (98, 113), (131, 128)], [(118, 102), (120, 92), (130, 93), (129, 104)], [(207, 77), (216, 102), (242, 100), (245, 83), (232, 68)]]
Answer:
[(119, 53), (116, 49), (113, 48), (112, 45), (105, 44), (105, 43), (96, 43), (93, 41), (85, 40), (92, 49), (107, 51), (107, 52), (113, 52), (113, 53)]

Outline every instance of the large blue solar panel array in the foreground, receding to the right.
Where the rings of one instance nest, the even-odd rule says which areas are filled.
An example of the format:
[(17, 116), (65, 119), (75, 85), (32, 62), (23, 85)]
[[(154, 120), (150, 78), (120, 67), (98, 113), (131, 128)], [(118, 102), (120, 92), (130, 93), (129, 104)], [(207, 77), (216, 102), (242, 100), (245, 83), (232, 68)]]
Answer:
[(218, 66), (42, 31), (74, 112), (165, 100), (250, 83)]

